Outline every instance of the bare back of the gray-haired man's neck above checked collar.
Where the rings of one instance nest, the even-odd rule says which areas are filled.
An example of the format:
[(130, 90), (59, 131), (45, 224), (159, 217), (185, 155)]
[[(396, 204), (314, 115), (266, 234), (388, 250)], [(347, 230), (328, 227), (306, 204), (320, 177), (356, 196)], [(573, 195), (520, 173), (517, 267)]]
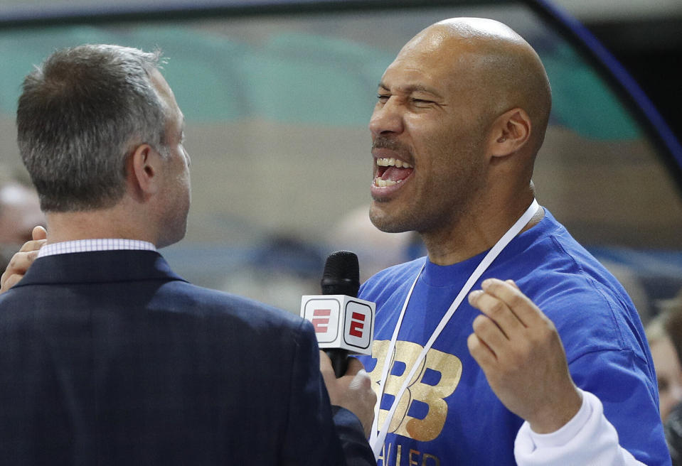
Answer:
[(48, 212), (48, 244), (76, 239), (140, 239), (156, 244), (149, 224), (131, 222), (131, 212), (120, 206), (85, 212)]

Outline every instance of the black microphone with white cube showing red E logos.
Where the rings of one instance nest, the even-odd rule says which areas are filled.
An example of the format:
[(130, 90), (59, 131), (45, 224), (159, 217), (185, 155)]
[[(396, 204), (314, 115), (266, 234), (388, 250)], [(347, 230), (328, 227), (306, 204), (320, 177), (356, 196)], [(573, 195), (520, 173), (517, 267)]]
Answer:
[(320, 284), (322, 295), (302, 297), (301, 317), (313, 324), (338, 379), (346, 374), (349, 353), (372, 354), (375, 303), (357, 297), (360, 267), (353, 252), (330, 254)]

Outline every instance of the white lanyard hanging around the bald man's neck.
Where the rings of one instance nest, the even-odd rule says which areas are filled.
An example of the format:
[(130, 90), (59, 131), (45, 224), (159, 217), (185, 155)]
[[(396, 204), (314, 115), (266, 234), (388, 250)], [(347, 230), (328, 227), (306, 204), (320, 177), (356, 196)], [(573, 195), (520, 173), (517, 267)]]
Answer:
[(417, 369), (420, 367), (422, 360), (426, 357), (427, 352), (429, 352), (436, 338), (443, 331), (445, 325), (447, 325), (450, 318), (452, 318), (454, 311), (457, 310), (457, 308), (459, 308), (459, 305), (462, 303), (462, 300), (464, 300), (464, 296), (467, 296), (467, 293), (469, 293), (471, 288), (474, 286), (474, 283), (476, 283), (476, 281), (478, 281), (478, 279), (481, 278), (481, 275), (483, 275), (483, 273), (489, 268), (489, 266), (493, 263), (496, 257), (499, 256), (499, 254), (506, 247), (506, 245), (509, 244), (509, 242), (511, 242), (511, 240), (521, 232), (523, 227), (526, 227), (526, 224), (528, 224), (528, 222), (531, 221), (533, 215), (535, 215), (536, 212), (538, 211), (538, 207), (540, 207), (538, 205), (538, 201), (533, 199), (533, 203), (531, 203), (531, 206), (528, 207), (528, 210), (526, 210), (526, 212), (524, 212), (523, 215), (521, 215), (521, 218), (516, 220), (516, 223), (513, 224), (511, 228), (508, 229), (508, 231), (503, 235), (503, 237), (499, 239), (495, 246), (493, 246), (492, 249), (488, 251), (488, 254), (486, 254), (481, 263), (476, 267), (474, 272), (471, 273), (471, 276), (469, 276), (469, 280), (467, 280), (467, 283), (464, 283), (464, 286), (462, 286), (462, 290), (459, 291), (457, 298), (454, 298), (454, 301), (452, 301), (452, 304), (447, 310), (447, 313), (445, 313), (443, 318), (440, 320), (440, 323), (436, 327), (436, 330), (434, 330), (429, 341), (424, 346), (424, 349), (422, 350), (419, 357), (415, 361), (415, 364), (412, 365), (410, 373), (407, 374), (407, 377), (405, 377), (403, 386), (400, 387), (400, 391), (398, 391), (398, 394), (395, 396), (395, 399), (393, 400), (393, 405), (390, 407), (390, 410), (388, 411), (388, 416), (386, 416), (386, 419), (383, 423), (381, 430), (378, 430), (379, 406), (381, 404), (381, 398), (383, 396), (383, 391), (385, 389), (386, 379), (388, 378), (388, 372), (390, 370), (391, 363), (393, 362), (393, 352), (395, 352), (395, 342), (398, 340), (398, 331), (400, 330), (400, 325), (403, 325), (403, 317), (405, 317), (407, 303), (410, 302), (412, 291), (415, 289), (415, 285), (417, 285), (417, 280), (419, 280), (419, 277), (422, 274), (422, 271), (424, 270), (424, 266), (422, 266), (422, 269), (419, 271), (419, 273), (417, 273), (417, 278), (415, 278), (415, 282), (412, 283), (410, 291), (407, 292), (407, 298), (405, 298), (403, 310), (400, 311), (398, 323), (395, 324), (395, 330), (393, 330), (393, 337), (391, 337), (390, 339), (390, 345), (388, 345), (388, 352), (386, 352), (386, 359), (383, 365), (383, 370), (381, 372), (381, 379), (379, 382), (379, 396), (376, 406), (374, 408), (374, 423), (372, 426), (372, 434), (370, 436), (370, 445), (372, 445), (372, 449), (374, 450), (374, 457), (376, 459), (378, 459), (381, 453), (381, 448), (383, 447), (383, 444), (386, 440), (386, 435), (388, 434), (388, 427), (390, 426), (390, 421), (393, 418), (393, 415), (395, 414), (395, 410), (398, 408), (398, 403), (400, 402), (400, 399), (403, 398), (403, 395), (405, 394), (407, 384), (409, 384), (410, 381), (412, 380), (412, 377), (415, 376), (415, 372), (417, 372)]

